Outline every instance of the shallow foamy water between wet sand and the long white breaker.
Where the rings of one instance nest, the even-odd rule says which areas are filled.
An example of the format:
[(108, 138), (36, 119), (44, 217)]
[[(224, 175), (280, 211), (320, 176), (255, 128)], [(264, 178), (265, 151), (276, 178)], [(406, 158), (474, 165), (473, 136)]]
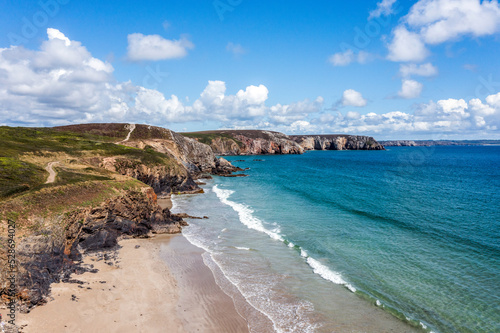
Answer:
[[(206, 191), (206, 193), (210, 193), (210, 191)], [(182, 200), (178, 201), (175, 203), (175, 207), (179, 211), (185, 211), (188, 214), (193, 215), (199, 215), (207, 212), (206, 209), (202, 208), (204, 207), (203, 198), (197, 198), (198, 199), (192, 198), (191, 200), (189, 200), (189, 205), (183, 204)], [(210, 207), (212, 207), (213, 205), (214, 203), (212, 202)], [(192, 209), (194, 210), (190, 210), (189, 207), (192, 207)], [(217, 212), (223, 211), (220, 207), (216, 207), (215, 209)], [(233, 211), (234, 207), (229, 209)], [(261, 314), (260, 317), (253, 317), (253, 313), (250, 313), (249, 315), (249, 313), (245, 313), (245, 311), (242, 311), (242, 313), (245, 314), (245, 317), (249, 318), (249, 324), (251, 328), (254, 328), (254, 325), (258, 325), (260, 326), (260, 328), (268, 327), (269, 331), (274, 331), (275, 329), (277, 329), (277, 327), (281, 329), (283, 328), (283, 325), (287, 326), (289, 324), (292, 325), (292, 327), (300, 328), (298, 330), (299, 332), (302, 330), (307, 332), (335, 331), (408, 333), (425, 331), (421, 326), (414, 326), (408, 321), (398, 318), (390, 311), (387, 311), (387, 309), (375, 305), (374, 302), (367, 300), (360, 294), (352, 292), (352, 290), (348, 290), (348, 288), (344, 285), (337, 284), (336, 282), (325, 278), (323, 275), (319, 274), (315, 269), (313, 269), (313, 267), (310, 267), (309, 264), (304, 265), (304, 257), (297, 256), (295, 251), (285, 250), (284, 252), (281, 252), (281, 250), (283, 250), (281, 242), (268, 243), (271, 248), (266, 248), (266, 251), (271, 251), (265, 252), (265, 254), (259, 254), (259, 249), (261, 247), (257, 244), (260, 244), (258, 242), (262, 240), (268, 240), (266, 235), (263, 235), (262, 232), (252, 233), (252, 235), (247, 234), (248, 226), (241, 221), (241, 216), (239, 217), (240, 221), (232, 226), (228, 225), (227, 222), (222, 224), (217, 223), (216, 221), (218, 219), (224, 221), (224, 217), (227, 216), (227, 214), (222, 213), (219, 216), (217, 215), (216, 211), (212, 211), (211, 213), (207, 212), (207, 214), (214, 219), (214, 221), (212, 222), (215, 223), (213, 228), (207, 226), (207, 230), (205, 230), (205, 227), (201, 227), (204, 222), (198, 220), (188, 220), (188, 223), (190, 223), (191, 225), (190, 228), (195, 228), (195, 234), (199, 234), (200, 232), (205, 230), (206, 233), (210, 235), (207, 236), (208, 238), (217, 236), (217, 234), (219, 234), (217, 239), (221, 239), (221, 233), (226, 232), (226, 228), (229, 228), (231, 230), (232, 236), (236, 236), (236, 238), (222, 237), (222, 239), (226, 239), (226, 241), (224, 241), (225, 244), (219, 244), (219, 247), (217, 248), (211, 248), (211, 246), (209, 245), (214, 242), (213, 239), (212, 241), (207, 238), (205, 238), (204, 241), (198, 238), (192, 240), (191, 238), (193, 237), (193, 229), (185, 232), (184, 238), (186, 238), (192, 244), (195, 244), (197, 247), (203, 249), (208, 259), (205, 262), (206, 265), (210, 267), (214, 276), (216, 277), (216, 280), (218, 281), (219, 285), (221, 285), (224, 292), (226, 292), (228, 295), (231, 295), (233, 299), (235, 299), (235, 304), (238, 309), (241, 310), (245, 306), (247, 308), (252, 307), (254, 313), (255, 311), (257, 311)], [(236, 216), (231, 216), (231, 218), (238, 219), (237, 216), (239, 215), (239, 212), (237, 210), (234, 210), (233, 214), (236, 214)], [(198, 227), (196, 227), (197, 225)], [(239, 231), (237, 229), (239, 229)], [(239, 236), (237, 236), (238, 232), (241, 232)], [(244, 237), (244, 241), (246, 242), (245, 246), (248, 247), (238, 247), (241, 246), (240, 242), (243, 240), (241, 237)], [(233, 241), (230, 239), (232, 239)], [(234, 239), (237, 239), (237, 241), (234, 242)], [(236, 252), (233, 252), (233, 249), (236, 249)], [(273, 253), (278, 254), (278, 252), (275, 252), (276, 249), (280, 250), (279, 258), (273, 256)], [(228, 252), (226, 252), (226, 250)], [(220, 255), (224, 253), (226, 256), (226, 264), (229, 263), (229, 266), (225, 264), (223, 264), (223, 266), (219, 266), (219, 264), (217, 264), (215, 260), (210, 260), (211, 256), (214, 253), (218, 254), (217, 257), (219, 261), (221, 259)], [(227, 255), (233, 257), (229, 257), (228, 259)], [(227, 275), (227, 272), (233, 271), (231, 265), (237, 265), (240, 262), (240, 260), (236, 259), (234, 255), (237, 255), (238, 258), (241, 258), (243, 256), (244, 259), (241, 260), (241, 263), (243, 263), (243, 270), (239, 270), (238, 273), (233, 275), (231, 275), (230, 273), (231, 277), (229, 277)], [(259, 261), (258, 258), (261, 258), (261, 256), (265, 256), (267, 258), (265, 260), (265, 263), (263, 265), (256, 265), (256, 263)], [(282, 267), (279, 262), (283, 260), (293, 263), (292, 267), (294, 268)], [(273, 269), (271, 269), (270, 267), (273, 267)], [(283, 275), (282, 272), (288, 273), (285, 273)], [(303, 278), (295, 279), (295, 282), (287, 282), (292, 281), (292, 276), (295, 276), (295, 274), (300, 277), (306, 277), (307, 282), (305, 282)], [(260, 278), (267, 279), (270, 275), (274, 275), (274, 277), (270, 278), (270, 280), (268, 281), (269, 284), (261, 286), (264, 290), (267, 290), (267, 292), (254, 293), (254, 290), (250, 290), (248, 288), (246, 289), (246, 291), (242, 291), (245, 290), (245, 286), (242, 287), (241, 284), (246, 284), (246, 282), (244, 282), (246, 281), (246, 279), (241, 280), (240, 278), (236, 277), (241, 277), (242, 275), (247, 275), (249, 285), (258, 284), (258, 279)], [(282, 278), (283, 280), (279, 284), (273, 282)], [(235, 285), (235, 283), (237, 286)], [(296, 284), (293, 285), (293, 283)], [(236, 297), (233, 295), (234, 293), (231, 289), (239, 290), (239, 292), (236, 291)], [(301, 292), (301, 290), (303, 290), (303, 292)], [(312, 301), (312, 299), (310, 298), (310, 296), (318, 295), (318, 290), (320, 290), (320, 298), (313, 301), (314, 303), (311, 303), (310, 301)], [(309, 292), (311, 292), (311, 294), (309, 294)], [(258, 300), (266, 299), (267, 297), (274, 297), (274, 299), (268, 299), (264, 303), (258, 304)], [(332, 300), (334, 301), (332, 302)], [(319, 302), (319, 304), (316, 303), (316, 301)], [(271, 304), (273, 305), (271, 306)], [(316, 308), (316, 305), (319, 305), (319, 308)], [(271, 312), (269, 312), (268, 310), (271, 310)], [(305, 321), (302, 321), (300, 318), (296, 318), (299, 312), (302, 313), (302, 315), (304, 316), (303, 319)], [(266, 317), (264, 320), (267, 321), (267, 323), (263, 322), (262, 315)], [(302, 317), (302, 315), (300, 317)], [(287, 322), (287, 324), (283, 324), (283, 320), (289, 322)], [(269, 324), (271, 326), (269, 326)], [(275, 329), (273, 329), (272, 326), (274, 326)], [(284, 329), (285, 331), (288, 331), (287, 328)]]

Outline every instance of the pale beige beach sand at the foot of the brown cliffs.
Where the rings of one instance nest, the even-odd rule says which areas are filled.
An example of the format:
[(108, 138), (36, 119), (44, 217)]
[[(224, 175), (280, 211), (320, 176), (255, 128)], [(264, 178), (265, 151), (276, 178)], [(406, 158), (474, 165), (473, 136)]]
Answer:
[[(99, 272), (72, 276), (83, 284), (53, 284), (54, 300), (29, 314), (18, 313), (22, 331), (248, 332), (232, 299), (203, 264), (202, 251), (182, 235), (119, 244), (115, 259), (85, 257), (84, 263)], [(176, 267), (174, 274), (170, 265)]]

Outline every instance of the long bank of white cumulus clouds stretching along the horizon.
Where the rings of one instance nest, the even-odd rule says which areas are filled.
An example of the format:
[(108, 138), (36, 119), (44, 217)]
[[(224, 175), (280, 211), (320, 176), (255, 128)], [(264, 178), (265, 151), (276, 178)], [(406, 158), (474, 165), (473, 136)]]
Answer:
[[(80, 42), (67, 39), (60, 31), (48, 34), (51, 38), (42, 42), (39, 50), (22, 46), (0, 49), (0, 124), (135, 122), (175, 129), (175, 124), (182, 128), (189, 122), (212, 121), (220, 127), (290, 134), (429, 138), (444, 133), (461, 138), (500, 138), (500, 93), (469, 102), (431, 101), (420, 104), (413, 113), (342, 114), (325, 110), (322, 97), (268, 106), (270, 92), (264, 85), (228, 93), (225, 82), (209, 81), (199, 97), (188, 103), (174, 94), (117, 82), (113, 66), (93, 57)], [(366, 105), (355, 90), (346, 90), (343, 97), (345, 105)]]

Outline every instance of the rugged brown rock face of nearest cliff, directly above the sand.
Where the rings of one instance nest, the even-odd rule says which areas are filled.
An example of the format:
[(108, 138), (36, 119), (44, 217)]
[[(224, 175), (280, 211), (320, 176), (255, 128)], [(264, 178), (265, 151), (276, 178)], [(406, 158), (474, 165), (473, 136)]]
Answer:
[[(24, 311), (46, 302), (51, 283), (71, 282), (68, 279), (72, 273), (88, 271), (80, 265), (84, 252), (112, 249), (123, 237), (178, 233), (186, 225), (180, 217), (158, 206), (151, 188), (129, 192), (57, 219), (46, 222), (59, 228), (41, 230), (17, 244), (16, 298)], [(5, 286), (0, 288), (0, 294), (5, 299)]]

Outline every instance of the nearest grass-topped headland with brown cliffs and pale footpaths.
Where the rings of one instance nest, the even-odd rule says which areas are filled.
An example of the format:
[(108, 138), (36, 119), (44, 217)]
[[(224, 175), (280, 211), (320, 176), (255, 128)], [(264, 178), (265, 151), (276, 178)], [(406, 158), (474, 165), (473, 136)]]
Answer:
[[(181, 216), (161, 209), (157, 194), (200, 192), (194, 178), (236, 170), (209, 146), (152, 126), (3, 126), (0, 136), (0, 265), (7, 267), (4, 235), (13, 220), (15, 299), (24, 311), (46, 302), (51, 283), (88, 270), (80, 263), (86, 251), (180, 232)], [(8, 288), (2, 270), (3, 302)]]

